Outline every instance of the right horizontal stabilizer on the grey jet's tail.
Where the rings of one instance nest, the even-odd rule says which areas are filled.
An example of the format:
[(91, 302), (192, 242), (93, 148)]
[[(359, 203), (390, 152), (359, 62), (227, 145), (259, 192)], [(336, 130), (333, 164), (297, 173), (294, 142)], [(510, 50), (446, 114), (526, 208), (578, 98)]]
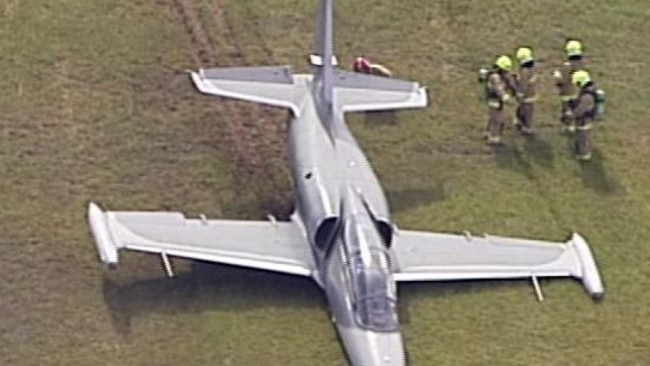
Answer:
[(410, 81), (343, 70), (334, 74), (334, 99), (343, 112), (421, 108), (426, 88)]

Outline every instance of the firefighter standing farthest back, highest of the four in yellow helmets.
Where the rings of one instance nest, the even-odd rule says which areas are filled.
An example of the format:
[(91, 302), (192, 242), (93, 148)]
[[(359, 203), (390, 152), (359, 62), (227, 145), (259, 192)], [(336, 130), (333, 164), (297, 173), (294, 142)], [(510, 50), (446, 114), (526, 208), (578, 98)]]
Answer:
[(568, 40), (564, 45), (566, 61), (553, 72), (555, 85), (561, 100), (560, 122), (564, 132), (575, 132), (574, 120), (571, 115), (576, 102), (577, 91), (571, 83), (571, 75), (576, 70), (584, 69), (582, 43), (575, 39)]

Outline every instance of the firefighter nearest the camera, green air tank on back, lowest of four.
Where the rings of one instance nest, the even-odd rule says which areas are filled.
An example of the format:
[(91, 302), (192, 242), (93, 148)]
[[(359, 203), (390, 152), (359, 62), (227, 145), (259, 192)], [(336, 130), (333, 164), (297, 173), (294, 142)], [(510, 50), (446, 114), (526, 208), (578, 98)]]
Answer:
[(585, 70), (575, 71), (571, 75), (571, 83), (578, 89), (573, 108), (573, 121), (577, 132), (575, 142), (577, 158), (587, 161), (592, 155), (591, 129), (597, 113), (597, 89)]

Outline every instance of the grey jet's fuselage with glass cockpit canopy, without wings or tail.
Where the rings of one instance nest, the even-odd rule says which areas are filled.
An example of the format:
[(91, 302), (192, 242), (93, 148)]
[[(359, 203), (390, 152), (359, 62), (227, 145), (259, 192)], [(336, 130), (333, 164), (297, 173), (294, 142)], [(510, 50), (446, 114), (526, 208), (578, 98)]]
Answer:
[(352, 365), (404, 365), (383, 190), (343, 113), (318, 100), (311, 75), (294, 78), (311, 91), (290, 122), (289, 154), (314, 279)]

